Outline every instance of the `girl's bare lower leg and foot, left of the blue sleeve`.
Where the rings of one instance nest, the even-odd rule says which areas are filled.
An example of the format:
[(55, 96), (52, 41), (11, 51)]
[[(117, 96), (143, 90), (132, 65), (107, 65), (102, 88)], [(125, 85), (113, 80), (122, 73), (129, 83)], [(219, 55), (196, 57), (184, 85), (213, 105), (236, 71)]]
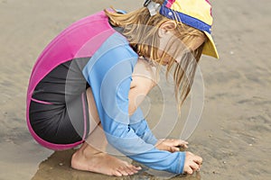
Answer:
[(73, 154), (71, 166), (75, 169), (100, 173), (104, 175), (133, 175), (141, 167), (128, 164), (105, 152), (107, 139), (98, 118), (98, 112), (91, 89), (87, 90), (89, 103), (90, 132), (86, 142)]

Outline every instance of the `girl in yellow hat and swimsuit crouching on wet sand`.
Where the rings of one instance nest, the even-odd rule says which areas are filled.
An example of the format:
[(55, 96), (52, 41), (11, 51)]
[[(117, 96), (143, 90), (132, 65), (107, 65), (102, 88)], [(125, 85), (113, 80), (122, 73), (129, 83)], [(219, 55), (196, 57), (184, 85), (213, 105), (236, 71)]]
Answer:
[(71, 158), (79, 170), (122, 176), (141, 169), (103, 151), (108, 141), (145, 166), (192, 174), (201, 157), (179, 151), (187, 147), (180, 139), (155, 139), (137, 97), (156, 84), (156, 68), (174, 67), (182, 104), (201, 54), (218, 58), (211, 23), (207, 0), (147, 0), (129, 14), (105, 10), (71, 24), (33, 67), (27, 92), (33, 138), (54, 150), (81, 145)]

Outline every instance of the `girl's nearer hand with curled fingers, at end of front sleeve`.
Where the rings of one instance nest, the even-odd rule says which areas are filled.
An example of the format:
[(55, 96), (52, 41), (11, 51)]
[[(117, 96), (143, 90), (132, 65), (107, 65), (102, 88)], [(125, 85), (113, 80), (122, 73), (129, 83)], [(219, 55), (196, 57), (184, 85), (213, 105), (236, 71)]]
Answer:
[(202, 158), (198, 157), (192, 152), (185, 152), (185, 162), (183, 166), (183, 173), (192, 175), (194, 171), (199, 171), (202, 164)]

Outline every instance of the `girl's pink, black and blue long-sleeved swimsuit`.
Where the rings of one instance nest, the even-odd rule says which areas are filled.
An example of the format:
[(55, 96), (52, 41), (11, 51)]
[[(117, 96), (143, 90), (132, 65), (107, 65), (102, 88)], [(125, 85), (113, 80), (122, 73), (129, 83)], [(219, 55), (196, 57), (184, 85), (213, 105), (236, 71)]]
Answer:
[(104, 12), (62, 31), (42, 51), (27, 91), (27, 125), (42, 146), (74, 148), (89, 134), (86, 89), (91, 88), (107, 141), (127, 157), (157, 170), (182, 173), (185, 153), (158, 150), (138, 108), (128, 114), (128, 93), (138, 55)]

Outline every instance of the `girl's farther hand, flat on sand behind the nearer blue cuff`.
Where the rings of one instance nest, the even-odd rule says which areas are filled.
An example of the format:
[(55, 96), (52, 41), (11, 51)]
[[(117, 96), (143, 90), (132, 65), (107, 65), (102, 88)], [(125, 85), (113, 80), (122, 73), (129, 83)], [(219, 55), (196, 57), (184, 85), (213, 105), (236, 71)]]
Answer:
[(155, 147), (159, 150), (167, 150), (169, 152), (180, 151), (180, 147), (188, 148), (188, 142), (182, 139), (159, 139)]

